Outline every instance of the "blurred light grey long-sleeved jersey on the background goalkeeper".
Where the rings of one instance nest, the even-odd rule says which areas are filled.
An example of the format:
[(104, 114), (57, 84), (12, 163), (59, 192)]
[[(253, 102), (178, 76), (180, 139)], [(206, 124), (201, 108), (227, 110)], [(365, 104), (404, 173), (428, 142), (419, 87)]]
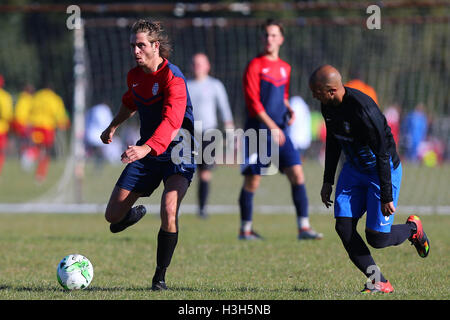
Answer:
[(187, 81), (189, 95), (194, 109), (194, 120), (202, 121), (202, 130), (217, 128), (217, 109), (224, 122), (232, 122), (228, 96), (222, 82), (213, 77), (198, 81)]

